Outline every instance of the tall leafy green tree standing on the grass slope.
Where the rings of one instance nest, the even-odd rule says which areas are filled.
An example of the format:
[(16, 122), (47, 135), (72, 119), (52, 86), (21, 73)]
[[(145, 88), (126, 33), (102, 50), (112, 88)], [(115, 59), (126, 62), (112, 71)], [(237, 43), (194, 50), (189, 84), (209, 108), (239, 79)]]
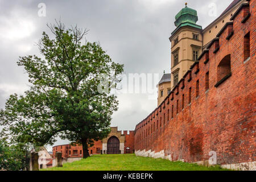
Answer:
[[(28, 73), (30, 90), (10, 96), (0, 122), (2, 135), (36, 146), (52, 144), (56, 137), (82, 144), (84, 158), (95, 140), (110, 132), (118, 101), (109, 92), (123, 65), (114, 63), (98, 43), (82, 43), (87, 30), (47, 24), (38, 46), (42, 57), (23, 56), (17, 62)], [(104, 78), (114, 71), (112, 80)], [(107, 84), (102, 85), (102, 82)], [(102, 92), (102, 90), (104, 92)]]

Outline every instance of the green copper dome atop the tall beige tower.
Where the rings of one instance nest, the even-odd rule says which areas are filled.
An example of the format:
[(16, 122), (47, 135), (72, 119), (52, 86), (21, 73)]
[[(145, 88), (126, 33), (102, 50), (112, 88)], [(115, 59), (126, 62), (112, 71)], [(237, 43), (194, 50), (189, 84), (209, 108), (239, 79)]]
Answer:
[(172, 34), (174, 34), (180, 27), (184, 26), (202, 29), (200, 25), (196, 24), (198, 20), (197, 11), (187, 7), (187, 3), (185, 5), (186, 6), (175, 16), (174, 24), (177, 28)]

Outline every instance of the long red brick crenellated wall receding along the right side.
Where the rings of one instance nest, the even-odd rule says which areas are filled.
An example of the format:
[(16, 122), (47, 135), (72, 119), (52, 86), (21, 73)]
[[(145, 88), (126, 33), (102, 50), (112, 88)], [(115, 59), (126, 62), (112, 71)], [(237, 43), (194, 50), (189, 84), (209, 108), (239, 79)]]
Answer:
[[(252, 162), (256, 159), (255, 113), (256, 113), (256, 61), (255, 61), (255, 1), (250, 1), (250, 18), (241, 23), (243, 10), (233, 23), (234, 35), (227, 40), (229, 28), (220, 35), (216, 49), (209, 48), (209, 61), (205, 56), (199, 61), (199, 72), (192, 67), (184, 77), (184, 88), (175, 88), (167, 100), (135, 128), (135, 150), (164, 150), (172, 160), (184, 159), (196, 162), (209, 159), (209, 151), (217, 152), (217, 164)], [(250, 31), (250, 60), (243, 62), (243, 37)], [(231, 72), (227, 80), (217, 88), (217, 67), (220, 61), (231, 55)], [(209, 71), (209, 90), (205, 91), (205, 74)], [(196, 98), (196, 81), (199, 80), (199, 97)], [(189, 88), (192, 89), (191, 104), (188, 103)], [(184, 94), (184, 109), (181, 98)], [(173, 95), (173, 100), (171, 100)], [(179, 107), (176, 106), (179, 100)], [(167, 121), (167, 111), (174, 105), (174, 118)], [(164, 107), (165, 106), (165, 107)], [(178, 108), (178, 113), (176, 111)], [(162, 109), (162, 111), (160, 111)], [(156, 114), (158, 113), (158, 115)], [(165, 125), (150, 135), (152, 123), (166, 116)], [(170, 113), (171, 115), (171, 113)], [(153, 117), (152, 117), (153, 116)], [(155, 116), (155, 117), (154, 117)], [(152, 117), (152, 120), (149, 119)]]

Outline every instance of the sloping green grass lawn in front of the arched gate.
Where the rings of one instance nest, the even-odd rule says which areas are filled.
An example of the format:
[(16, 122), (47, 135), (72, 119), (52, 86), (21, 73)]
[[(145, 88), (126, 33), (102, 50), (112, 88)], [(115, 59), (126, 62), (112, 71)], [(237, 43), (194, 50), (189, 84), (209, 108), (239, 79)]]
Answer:
[(65, 163), (62, 168), (42, 169), (45, 171), (219, 171), (218, 166), (204, 167), (197, 164), (171, 162), (134, 154), (93, 155), (73, 163)]

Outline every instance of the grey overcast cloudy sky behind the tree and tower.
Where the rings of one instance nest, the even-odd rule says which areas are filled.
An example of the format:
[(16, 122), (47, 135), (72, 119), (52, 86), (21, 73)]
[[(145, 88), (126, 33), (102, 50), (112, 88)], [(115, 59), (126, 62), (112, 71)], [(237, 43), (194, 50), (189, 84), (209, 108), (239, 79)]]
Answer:
[[(49, 33), (46, 23), (55, 19), (66, 26), (88, 28), (86, 39), (100, 42), (114, 61), (125, 65), (125, 73), (159, 73), (159, 77), (164, 70), (170, 73), (168, 38), (185, 2), (197, 10), (197, 24), (204, 28), (232, 0), (0, 0), (0, 108), (10, 94), (28, 89), (28, 77), (16, 61), (19, 56), (39, 55), (35, 44), (43, 31)], [(213, 5), (217, 16), (209, 15)], [(157, 105), (156, 98), (149, 100), (148, 94), (118, 94), (118, 100), (112, 126), (119, 130), (134, 130)]]

